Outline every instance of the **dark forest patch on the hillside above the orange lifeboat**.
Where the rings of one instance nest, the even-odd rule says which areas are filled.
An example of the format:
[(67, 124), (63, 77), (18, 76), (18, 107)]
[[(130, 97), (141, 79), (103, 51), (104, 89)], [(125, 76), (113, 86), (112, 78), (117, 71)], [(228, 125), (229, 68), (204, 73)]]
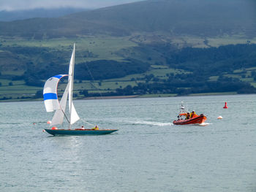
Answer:
[(205, 76), (233, 73), (256, 66), (256, 45), (225, 45), (209, 48), (186, 47), (180, 51), (163, 50), (167, 64)]

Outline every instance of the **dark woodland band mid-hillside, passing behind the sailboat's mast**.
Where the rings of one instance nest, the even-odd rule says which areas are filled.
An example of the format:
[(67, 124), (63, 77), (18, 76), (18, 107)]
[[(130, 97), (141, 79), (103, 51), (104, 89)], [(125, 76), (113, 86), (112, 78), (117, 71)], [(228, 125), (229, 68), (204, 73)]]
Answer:
[[(12, 80), (25, 80), (26, 85), (42, 86), (42, 80), (47, 80), (56, 74), (67, 74), (68, 66), (62, 64), (34, 65), (26, 64), (26, 72), (22, 76), (13, 77)], [(146, 72), (150, 64), (135, 59), (126, 61), (97, 60), (76, 64), (76, 80), (105, 80), (125, 77), (129, 74)]]

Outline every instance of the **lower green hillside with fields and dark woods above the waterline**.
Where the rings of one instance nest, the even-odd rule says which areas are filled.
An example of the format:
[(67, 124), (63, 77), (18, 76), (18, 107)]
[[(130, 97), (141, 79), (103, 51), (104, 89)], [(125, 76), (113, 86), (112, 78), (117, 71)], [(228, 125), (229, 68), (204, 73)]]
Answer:
[[(98, 52), (90, 51), (89, 45), (94, 47), (94, 44), (100, 45), (100, 42), (106, 43), (95, 40), (91, 44), (87, 42), (87, 46), (83, 47), (78, 42), (75, 97), (256, 93), (255, 44), (177, 49), (170, 44), (135, 46), (129, 41), (125, 43), (123, 39), (121, 50), (117, 46), (120, 42), (113, 41), (118, 42), (117, 45), (106, 46), (105, 52), (100, 49)], [(1, 53), (19, 55), (18, 61), (23, 61), (23, 68), (16, 66), (4, 70), (8, 69), (8, 65), (1, 66), (0, 99), (6, 101), (42, 97), (43, 82), (48, 77), (67, 73), (72, 47), (48, 46), (1, 47)], [(150, 53), (148, 57), (146, 53)], [(108, 59), (100, 59), (104, 57)]]

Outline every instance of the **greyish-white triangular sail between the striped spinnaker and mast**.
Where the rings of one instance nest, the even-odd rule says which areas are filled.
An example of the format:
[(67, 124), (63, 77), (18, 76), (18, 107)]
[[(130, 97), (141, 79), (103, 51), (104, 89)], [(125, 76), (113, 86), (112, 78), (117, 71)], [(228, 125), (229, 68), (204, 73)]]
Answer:
[(63, 96), (61, 98), (61, 102), (59, 103), (59, 109), (56, 110), (55, 114), (53, 115), (53, 119), (51, 120), (50, 126), (56, 126), (61, 125), (63, 123), (65, 110), (66, 110), (66, 104), (67, 104), (67, 94), (68, 92), (68, 85), (63, 93)]

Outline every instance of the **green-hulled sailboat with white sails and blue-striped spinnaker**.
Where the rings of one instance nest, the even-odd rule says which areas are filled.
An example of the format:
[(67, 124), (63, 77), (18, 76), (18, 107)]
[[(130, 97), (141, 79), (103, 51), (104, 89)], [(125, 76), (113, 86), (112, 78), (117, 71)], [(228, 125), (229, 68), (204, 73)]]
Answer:
[[(89, 134), (110, 134), (118, 129), (84, 129), (84, 128), (72, 128), (72, 125), (76, 123), (80, 118), (78, 112), (75, 110), (73, 104), (73, 82), (74, 82), (74, 66), (75, 66), (75, 44), (72, 52), (72, 56), (69, 62), (69, 74), (58, 74), (56, 76), (50, 77), (44, 86), (43, 96), (45, 102), (45, 109), (47, 112), (55, 111), (53, 119), (51, 120), (50, 127), (45, 128), (48, 134), (56, 135), (89, 135)], [(67, 87), (63, 93), (61, 101), (58, 99), (58, 84), (61, 78), (68, 76)], [(69, 103), (69, 118), (65, 112), (67, 99)], [(68, 129), (56, 128), (56, 125), (61, 125), (67, 119), (69, 123)]]

